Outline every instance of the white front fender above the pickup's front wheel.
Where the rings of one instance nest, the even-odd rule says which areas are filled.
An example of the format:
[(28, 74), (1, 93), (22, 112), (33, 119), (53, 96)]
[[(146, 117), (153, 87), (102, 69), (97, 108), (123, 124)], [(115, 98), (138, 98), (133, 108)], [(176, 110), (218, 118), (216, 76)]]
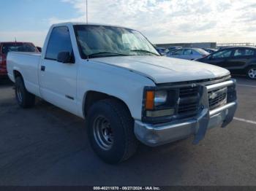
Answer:
[(78, 71), (80, 116), (83, 117), (86, 93), (96, 91), (124, 101), (132, 117), (141, 120), (143, 89), (145, 86), (155, 86), (155, 84), (151, 79), (132, 71), (89, 61), (81, 66)]

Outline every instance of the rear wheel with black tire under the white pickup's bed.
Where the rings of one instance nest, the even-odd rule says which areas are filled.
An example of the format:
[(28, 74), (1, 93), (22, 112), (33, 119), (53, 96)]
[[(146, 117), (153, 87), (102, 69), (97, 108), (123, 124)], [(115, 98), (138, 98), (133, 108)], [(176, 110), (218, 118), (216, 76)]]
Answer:
[(15, 96), (20, 107), (31, 108), (34, 106), (35, 95), (26, 90), (22, 77), (15, 79)]

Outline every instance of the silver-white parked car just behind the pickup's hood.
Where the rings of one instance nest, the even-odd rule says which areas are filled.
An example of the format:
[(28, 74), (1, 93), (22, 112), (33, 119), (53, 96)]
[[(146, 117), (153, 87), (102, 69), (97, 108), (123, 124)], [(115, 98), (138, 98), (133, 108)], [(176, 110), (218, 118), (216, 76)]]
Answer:
[(176, 50), (175, 52), (167, 53), (168, 57), (181, 58), (181, 59), (191, 60), (191, 61), (197, 58), (206, 57), (207, 55), (209, 55), (209, 53), (200, 48), (184, 48), (184, 49)]

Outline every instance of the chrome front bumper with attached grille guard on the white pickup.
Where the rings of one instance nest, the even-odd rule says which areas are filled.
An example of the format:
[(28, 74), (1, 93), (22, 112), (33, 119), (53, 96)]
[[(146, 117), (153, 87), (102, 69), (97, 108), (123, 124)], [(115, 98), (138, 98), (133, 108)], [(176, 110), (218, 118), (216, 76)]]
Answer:
[(189, 120), (176, 120), (164, 124), (147, 124), (135, 120), (135, 136), (138, 140), (150, 147), (156, 147), (180, 139), (195, 135), (194, 143), (197, 144), (210, 128), (227, 126), (234, 117), (237, 108), (237, 101), (232, 101), (217, 109), (211, 110), (208, 106), (208, 91), (221, 87), (235, 85), (236, 81), (230, 80), (215, 85), (203, 86), (201, 98), (202, 111), (197, 117)]

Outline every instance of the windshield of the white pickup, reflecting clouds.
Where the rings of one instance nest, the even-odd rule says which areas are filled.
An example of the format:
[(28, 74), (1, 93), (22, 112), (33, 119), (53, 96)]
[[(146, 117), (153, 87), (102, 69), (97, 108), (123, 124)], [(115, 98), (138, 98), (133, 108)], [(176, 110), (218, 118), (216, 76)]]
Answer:
[(124, 55), (159, 55), (153, 45), (140, 34), (113, 26), (74, 26), (83, 59)]

